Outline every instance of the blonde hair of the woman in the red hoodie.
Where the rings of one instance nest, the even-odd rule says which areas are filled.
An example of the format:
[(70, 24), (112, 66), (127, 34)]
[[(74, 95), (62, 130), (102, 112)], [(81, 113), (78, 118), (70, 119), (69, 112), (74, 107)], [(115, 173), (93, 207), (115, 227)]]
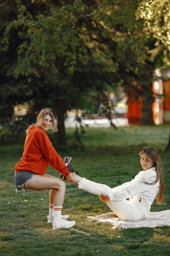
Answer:
[[(51, 108), (43, 108), (43, 109), (39, 112), (39, 114), (38, 114), (38, 116), (37, 116), (37, 119), (36, 119), (36, 123), (35, 123), (34, 125), (37, 126), (38, 128), (41, 128), (41, 127), (39, 126), (39, 120), (43, 120), (44, 123), (45, 123), (45, 116), (46, 116), (46, 115), (50, 115), (50, 116), (52, 117), (52, 119), (53, 119), (53, 127), (54, 127), (55, 131), (57, 132), (58, 129), (57, 129), (57, 126), (56, 126), (56, 124), (55, 124), (55, 118), (54, 118), (54, 114), (53, 114)], [(31, 125), (31, 126), (32, 126), (32, 125)], [(29, 128), (30, 128), (31, 126), (29, 126)], [(29, 128), (26, 130), (26, 134), (28, 133)]]

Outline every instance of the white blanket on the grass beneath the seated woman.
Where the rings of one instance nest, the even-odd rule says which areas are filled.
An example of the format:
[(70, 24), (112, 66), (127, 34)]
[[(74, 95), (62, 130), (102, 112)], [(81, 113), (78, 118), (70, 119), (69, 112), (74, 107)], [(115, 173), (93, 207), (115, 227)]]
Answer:
[(96, 220), (99, 222), (110, 222), (112, 229), (130, 229), (139, 227), (159, 227), (170, 226), (170, 210), (150, 212), (148, 218), (138, 221), (126, 221), (117, 217), (114, 212), (104, 213), (96, 217), (88, 216), (88, 220)]

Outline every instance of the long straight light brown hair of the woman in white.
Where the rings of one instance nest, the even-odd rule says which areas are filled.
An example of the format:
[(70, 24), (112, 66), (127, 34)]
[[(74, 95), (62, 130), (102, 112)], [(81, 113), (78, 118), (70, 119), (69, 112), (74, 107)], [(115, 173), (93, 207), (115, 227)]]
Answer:
[(146, 153), (146, 155), (148, 155), (148, 157), (153, 161), (153, 167), (155, 167), (155, 171), (157, 173), (157, 178), (155, 180), (155, 182), (153, 183), (147, 183), (147, 184), (156, 184), (158, 181), (160, 181), (159, 184), (159, 191), (158, 194), (156, 196), (157, 199), (157, 204), (161, 204), (164, 200), (164, 184), (163, 184), (163, 174), (162, 174), (162, 169), (163, 169), (163, 162), (161, 160), (161, 157), (159, 156), (156, 148), (148, 146), (144, 149), (141, 150), (141, 152), (139, 153), (139, 155), (141, 156), (141, 154)]

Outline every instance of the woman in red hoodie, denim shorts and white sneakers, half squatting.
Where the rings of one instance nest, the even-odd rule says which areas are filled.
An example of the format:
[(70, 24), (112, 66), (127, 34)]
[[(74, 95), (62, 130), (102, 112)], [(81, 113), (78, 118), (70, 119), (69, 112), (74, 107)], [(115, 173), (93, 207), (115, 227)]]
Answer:
[(48, 165), (51, 164), (59, 173), (65, 175), (67, 181), (74, 182), (73, 173), (66, 167), (66, 159), (63, 160), (57, 154), (46, 134), (52, 126), (57, 131), (53, 112), (46, 108), (40, 111), (36, 123), (26, 130), (24, 152), (15, 165), (15, 190), (25, 192), (24, 189), (51, 189), (48, 223), (53, 222), (53, 229), (69, 228), (75, 225), (75, 221), (68, 221), (68, 215), (61, 215), (66, 184), (57, 177), (45, 174)]

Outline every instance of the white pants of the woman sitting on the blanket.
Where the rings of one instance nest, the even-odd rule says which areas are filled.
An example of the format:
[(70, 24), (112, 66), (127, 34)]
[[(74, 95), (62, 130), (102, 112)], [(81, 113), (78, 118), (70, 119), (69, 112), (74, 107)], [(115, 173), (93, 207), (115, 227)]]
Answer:
[[(109, 186), (85, 178), (79, 181), (78, 188), (95, 195), (108, 195), (112, 193), (112, 189)], [(109, 201), (107, 205), (121, 220), (135, 221), (144, 218), (139, 201), (134, 203), (124, 199), (120, 201)]]

